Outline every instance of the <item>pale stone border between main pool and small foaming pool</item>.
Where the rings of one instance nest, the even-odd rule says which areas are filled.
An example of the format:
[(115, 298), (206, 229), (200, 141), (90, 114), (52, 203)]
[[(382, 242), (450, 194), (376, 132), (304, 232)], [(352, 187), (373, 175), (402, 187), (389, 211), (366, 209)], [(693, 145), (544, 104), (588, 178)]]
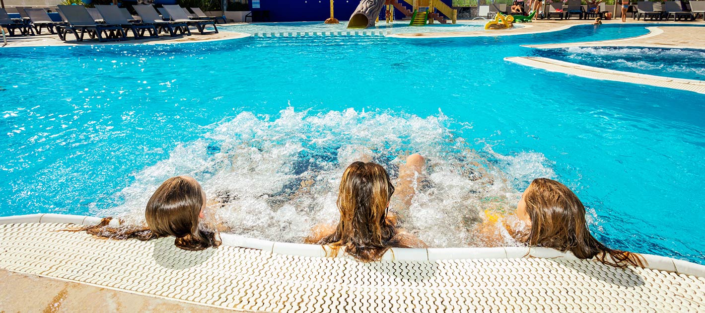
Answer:
[(550, 72), (565, 73), (584, 78), (612, 80), (615, 82), (630, 82), (632, 84), (686, 90), (690, 92), (697, 92), (699, 94), (705, 94), (705, 81), (702, 80), (686, 80), (682, 78), (670, 78), (623, 72), (620, 70), (608, 70), (606, 68), (596, 68), (593, 66), (584, 66), (576, 63), (534, 56), (510, 56), (504, 58), (504, 60), (517, 63), (522, 66), (531, 66), (533, 68), (541, 68), (542, 70), (548, 70)]

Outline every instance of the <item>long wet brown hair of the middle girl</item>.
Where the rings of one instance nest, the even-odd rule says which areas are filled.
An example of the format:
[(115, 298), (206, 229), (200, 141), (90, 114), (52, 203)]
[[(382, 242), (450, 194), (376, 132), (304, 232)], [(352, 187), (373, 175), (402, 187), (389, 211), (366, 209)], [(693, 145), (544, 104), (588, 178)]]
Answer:
[(397, 238), (396, 220), (387, 217), (394, 186), (379, 164), (350, 164), (338, 188), (341, 219), (336, 231), (319, 240), (330, 245), (329, 256), (345, 252), (362, 262), (379, 261), (390, 247), (407, 247)]

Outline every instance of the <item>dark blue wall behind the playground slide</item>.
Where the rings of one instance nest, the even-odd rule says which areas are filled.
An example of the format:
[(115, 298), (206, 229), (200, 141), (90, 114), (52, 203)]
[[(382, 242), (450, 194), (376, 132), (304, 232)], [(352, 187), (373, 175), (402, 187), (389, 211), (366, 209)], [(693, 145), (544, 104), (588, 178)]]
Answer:
[[(452, 0), (441, 0), (450, 6)], [(360, 4), (360, 0), (335, 0), (335, 17), (338, 20), (348, 20), (353, 15), (353, 11)], [(411, 9), (411, 6), (407, 6)], [(252, 11), (269, 11), (271, 22), (313, 22), (326, 20), (331, 16), (330, 0), (259, 0), (259, 8), (252, 8)], [(394, 16), (401, 19), (404, 15), (394, 10)], [(384, 12), (384, 10), (383, 10)], [(381, 16), (380, 20), (384, 20)]]

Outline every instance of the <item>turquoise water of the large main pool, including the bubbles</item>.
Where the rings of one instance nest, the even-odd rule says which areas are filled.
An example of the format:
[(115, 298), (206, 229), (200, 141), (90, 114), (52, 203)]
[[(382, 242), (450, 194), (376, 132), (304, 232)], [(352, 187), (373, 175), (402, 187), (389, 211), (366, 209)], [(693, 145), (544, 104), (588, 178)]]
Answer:
[(431, 247), (474, 245), (479, 211), (513, 209), (548, 176), (611, 247), (705, 264), (702, 95), (503, 61), (535, 53), (520, 44), (645, 33), (4, 49), (0, 214), (140, 222), (157, 185), (188, 174), (228, 203), (209, 214), (233, 232), (295, 242), (336, 219), (350, 161), (396, 176), (420, 152), (429, 168), (406, 226)]

